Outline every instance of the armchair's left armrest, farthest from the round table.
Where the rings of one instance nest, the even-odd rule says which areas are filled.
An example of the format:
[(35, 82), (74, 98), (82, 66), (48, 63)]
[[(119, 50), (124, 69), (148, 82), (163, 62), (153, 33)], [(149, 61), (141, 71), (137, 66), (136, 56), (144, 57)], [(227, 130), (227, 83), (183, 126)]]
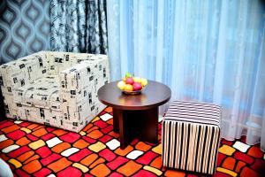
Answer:
[(13, 90), (43, 77), (48, 72), (49, 63), (43, 52), (19, 58), (0, 66), (0, 85), (4, 97), (6, 116), (16, 117), (18, 107)]

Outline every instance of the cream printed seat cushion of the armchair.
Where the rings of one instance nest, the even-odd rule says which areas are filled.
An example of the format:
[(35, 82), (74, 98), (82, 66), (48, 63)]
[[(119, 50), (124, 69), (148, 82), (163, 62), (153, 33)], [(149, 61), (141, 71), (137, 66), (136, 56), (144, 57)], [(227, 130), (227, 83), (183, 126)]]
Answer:
[(49, 75), (37, 81), (15, 89), (16, 103), (26, 106), (61, 111), (61, 98), (59, 96), (59, 78)]

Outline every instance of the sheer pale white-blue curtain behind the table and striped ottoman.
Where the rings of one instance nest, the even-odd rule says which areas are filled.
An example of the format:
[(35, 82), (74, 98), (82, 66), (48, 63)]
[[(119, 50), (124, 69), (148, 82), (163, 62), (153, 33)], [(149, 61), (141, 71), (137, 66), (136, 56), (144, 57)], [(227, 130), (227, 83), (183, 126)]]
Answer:
[(223, 137), (265, 151), (264, 12), (259, 0), (108, 0), (112, 80), (128, 71), (173, 100), (220, 104)]

